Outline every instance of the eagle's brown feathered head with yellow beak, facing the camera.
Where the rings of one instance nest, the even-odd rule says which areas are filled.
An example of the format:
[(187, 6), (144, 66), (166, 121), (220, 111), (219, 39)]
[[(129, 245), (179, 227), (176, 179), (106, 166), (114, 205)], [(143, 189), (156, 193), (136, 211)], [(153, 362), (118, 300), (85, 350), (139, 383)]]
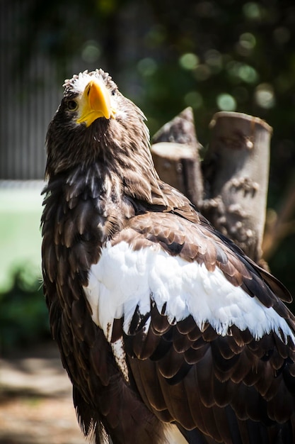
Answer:
[[(150, 160), (145, 117), (123, 96), (107, 72), (74, 74), (64, 82), (64, 96), (47, 131), (46, 175), (86, 169), (106, 162), (110, 169), (130, 167), (134, 154)], [(145, 162), (144, 162), (145, 163)]]

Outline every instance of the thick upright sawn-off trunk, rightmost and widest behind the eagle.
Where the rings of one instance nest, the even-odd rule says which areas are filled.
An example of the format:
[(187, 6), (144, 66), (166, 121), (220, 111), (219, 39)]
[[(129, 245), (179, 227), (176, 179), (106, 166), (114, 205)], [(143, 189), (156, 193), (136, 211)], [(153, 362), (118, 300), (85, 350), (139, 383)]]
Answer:
[(243, 113), (216, 113), (203, 172), (202, 213), (259, 262), (265, 226), (272, 128)]

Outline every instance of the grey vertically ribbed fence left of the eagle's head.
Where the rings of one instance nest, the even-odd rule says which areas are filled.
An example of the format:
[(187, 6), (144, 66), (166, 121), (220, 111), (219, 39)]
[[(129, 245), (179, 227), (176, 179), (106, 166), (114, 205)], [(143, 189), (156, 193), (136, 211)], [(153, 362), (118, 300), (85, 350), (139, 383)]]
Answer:
[(25, 4), (0, 1), (0, 179), (42, 179), (47, 125), (61, 94), (42, 54), (18, 65)]

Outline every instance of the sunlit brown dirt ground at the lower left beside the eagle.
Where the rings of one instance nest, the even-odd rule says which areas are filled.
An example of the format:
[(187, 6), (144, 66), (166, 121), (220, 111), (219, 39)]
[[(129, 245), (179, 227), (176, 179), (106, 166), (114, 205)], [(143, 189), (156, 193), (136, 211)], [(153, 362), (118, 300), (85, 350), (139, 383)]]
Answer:
[(54, 344), (0, 359), (0, 444), (84, 444)]

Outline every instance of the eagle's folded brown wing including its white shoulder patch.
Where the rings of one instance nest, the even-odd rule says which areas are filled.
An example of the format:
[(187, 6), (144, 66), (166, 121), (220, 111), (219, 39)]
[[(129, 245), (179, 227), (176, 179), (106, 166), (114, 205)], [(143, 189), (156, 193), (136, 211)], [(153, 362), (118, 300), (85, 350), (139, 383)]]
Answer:
[(188, 442), (203, 442), (196, 428), (204, 442), (293, 442), (289, 294), (208, 223), (130, 219), (84, 292), (127, 382)]

